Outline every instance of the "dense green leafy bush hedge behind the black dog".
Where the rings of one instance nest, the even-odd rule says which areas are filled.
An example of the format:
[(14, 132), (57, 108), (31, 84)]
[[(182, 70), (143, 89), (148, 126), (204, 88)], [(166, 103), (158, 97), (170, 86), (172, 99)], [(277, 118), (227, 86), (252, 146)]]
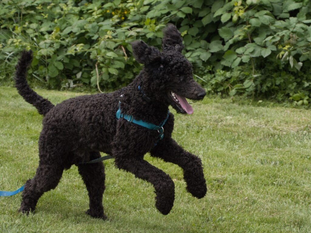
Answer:
[(207, 89), (280, 100), (311, 95), (309, 0), (2, 0), (0, 21), (3, 70), (31, 48), (34, 78), (53, 88), (127, 85), (141, 69), (130, 42), (160, 47), (171, 22)]

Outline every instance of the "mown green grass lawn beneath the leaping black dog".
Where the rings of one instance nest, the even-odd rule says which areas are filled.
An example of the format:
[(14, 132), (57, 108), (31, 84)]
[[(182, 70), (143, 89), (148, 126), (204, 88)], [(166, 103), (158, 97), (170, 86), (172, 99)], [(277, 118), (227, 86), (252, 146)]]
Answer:
[[(79, 95), (36, 91), (53, 103)], [(311, 112), (220, 98), (193, 108), (192, 116), (175, 114), (173, 137), (202, 159), (203, 199), (185, 191), (179, 167), (146, 155), (175, 182), (174, 207), (161, 215), (152, 185), (107, 160), (108, 221), (84, 213), (87, 192), (73, 166), (39, 199), (35, 214), (17, 212), (21, 194), (1, 197), (0, 232), (311, 232)], [(0, 87), (0, 190), (16, 190), (34, 176), (41, 120), (14, 88)]]

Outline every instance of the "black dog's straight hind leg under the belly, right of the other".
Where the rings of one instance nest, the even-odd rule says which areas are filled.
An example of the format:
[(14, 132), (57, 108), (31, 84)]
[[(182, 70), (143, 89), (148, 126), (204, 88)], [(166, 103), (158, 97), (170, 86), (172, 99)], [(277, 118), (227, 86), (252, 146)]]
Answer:
[[(90, 159), (100, 158), (99, 152), (91, 152)], [(86, 185), (90, 198), (88, 215), (95, 218), (106, 219), (103, 208), (103, 193), (105, 190), (105, 172), (102, 162), (90, 164), (78, 164), (78, 171)]]

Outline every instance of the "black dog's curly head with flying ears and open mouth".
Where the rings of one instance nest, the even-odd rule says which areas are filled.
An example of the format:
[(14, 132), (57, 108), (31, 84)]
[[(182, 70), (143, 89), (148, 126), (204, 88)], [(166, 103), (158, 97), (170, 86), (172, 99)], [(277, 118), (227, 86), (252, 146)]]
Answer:
[(183, 39), (173, 24), (163, 31), (162, 52), (143, 41), (132, 43), (137, 62), (145, 65), (148, 89), (157, 100), (165, 101), (179, 113), (192, 114), (193, 109), (186, 98), (201, 100), (205, 91), (193, 80), (191, 63), (181, 54)]

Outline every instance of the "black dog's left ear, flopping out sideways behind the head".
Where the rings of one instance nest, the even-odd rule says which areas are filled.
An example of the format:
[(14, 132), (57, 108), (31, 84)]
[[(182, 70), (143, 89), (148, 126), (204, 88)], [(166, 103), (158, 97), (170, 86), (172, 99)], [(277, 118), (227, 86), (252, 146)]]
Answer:
[(137, 62), (148, 65), (154, 64), (161, 60), (161, 53), (159, 49), (147, 45), (145, 42), (134, 41), (132, 42), (133, 55)]

